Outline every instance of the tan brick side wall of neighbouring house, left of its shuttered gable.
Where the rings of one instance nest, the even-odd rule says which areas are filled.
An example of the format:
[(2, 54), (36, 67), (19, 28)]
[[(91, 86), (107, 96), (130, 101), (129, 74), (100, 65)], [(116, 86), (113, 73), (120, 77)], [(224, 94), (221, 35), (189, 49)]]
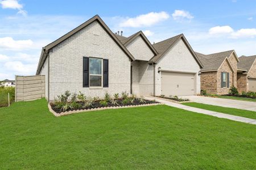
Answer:
[(208, 94), (217, 94), (217, 71), (201, 73), (201, 90)]

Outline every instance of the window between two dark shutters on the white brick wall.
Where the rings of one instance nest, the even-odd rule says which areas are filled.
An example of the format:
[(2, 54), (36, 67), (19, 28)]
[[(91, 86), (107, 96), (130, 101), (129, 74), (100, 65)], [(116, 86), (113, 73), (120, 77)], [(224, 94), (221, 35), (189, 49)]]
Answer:
[(89, 58), (90, 87), (102, 87), (102, 59)]

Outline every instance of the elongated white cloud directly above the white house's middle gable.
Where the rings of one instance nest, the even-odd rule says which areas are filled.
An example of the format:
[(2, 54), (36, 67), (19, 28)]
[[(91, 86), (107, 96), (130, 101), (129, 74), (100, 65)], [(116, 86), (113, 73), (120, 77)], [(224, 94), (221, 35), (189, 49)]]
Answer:
[(149, 27), (156, 23), (168, 19), (170, 16), (167, 12), (150, 12), (148, 14), (139, 15), (135, 18), (127, 18), (119, 24), (120, 27)]

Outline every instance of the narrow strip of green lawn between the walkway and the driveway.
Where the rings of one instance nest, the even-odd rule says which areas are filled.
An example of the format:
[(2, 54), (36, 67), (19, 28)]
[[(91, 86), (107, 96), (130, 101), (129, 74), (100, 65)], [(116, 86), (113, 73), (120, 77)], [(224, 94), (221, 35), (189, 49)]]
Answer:
[(233, 114), (233, 115), (236, 115), (236, 116), (242, 116), (242, 117), (256, 119), (256, 112), (253, 112), (253, 111), (247, 111), (247, 110), (235, 109), (235, 108), (219, 107), (217, 105), (209, 105), (209, 104), (194, 103), (194, 102), (183, 103), (183, 104), (191, 106), (191, 107), (195, 107), (195, 108), (209, 110), (209, 111), (226, 113), (226, 114)]

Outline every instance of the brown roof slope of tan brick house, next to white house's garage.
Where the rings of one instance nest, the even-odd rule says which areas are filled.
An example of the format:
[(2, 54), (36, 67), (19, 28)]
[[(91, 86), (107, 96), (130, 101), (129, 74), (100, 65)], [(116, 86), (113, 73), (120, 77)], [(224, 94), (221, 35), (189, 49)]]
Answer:
[(197, 57), (200, 59), (200, 61), (203, 63), (204, 67), (202, 71), (209, 71), (209, 70), (218, 70), (224, 60), (229, 57), (234, 50), (229, 50), (226, 52), (220, 52), (220, 53), (213, 53), (213, 54), (201, 54), (196, 53)]

